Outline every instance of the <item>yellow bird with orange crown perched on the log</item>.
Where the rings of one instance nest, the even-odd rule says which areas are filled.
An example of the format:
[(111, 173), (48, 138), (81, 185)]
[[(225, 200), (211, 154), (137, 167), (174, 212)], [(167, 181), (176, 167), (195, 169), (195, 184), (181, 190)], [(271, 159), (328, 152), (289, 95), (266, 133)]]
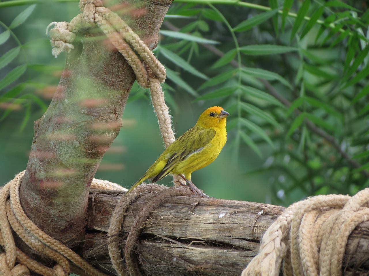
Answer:
[(169, 145), (125, 195), (146, 179), (154, 183), (168, 174), (179, 174), (193, 191), (206, 196), (191, 182), (191, 174), (206, 167), (219, 155), (227, 141), (225, 123), (228, 115), (219, 106), (205, 110), (196, 125)]

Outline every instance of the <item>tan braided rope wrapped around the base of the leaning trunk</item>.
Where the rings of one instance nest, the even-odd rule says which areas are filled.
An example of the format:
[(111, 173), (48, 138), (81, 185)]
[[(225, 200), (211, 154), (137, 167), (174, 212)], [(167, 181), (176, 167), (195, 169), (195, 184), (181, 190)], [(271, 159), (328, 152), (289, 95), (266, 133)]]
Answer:
[[(21, 276), (29, 275), (32, 271), (43, 276), (65, 276), (70, 271), (69, 262), (72, 262), (89, 275), (107, 276), (61, 242), (39, 229), (25, 215), (19, 198), (19, 187), (23, 175), (24, 171), (0, 189), (0, 244), (5, 248), (5, 253), (0, 254), (0, 272), (3, 273), (0, 274)], [(91, 187), (125, 190), (118, 188), (120, 186), (115, 183), (96, 179), (92, 181)], [(11, 234), (12, 229), (32, 250), (53, 259), (56, 262), (54, 268), (38, 263), (17, 248)], [(19, 264), (15, 265), (16, 262)]]

